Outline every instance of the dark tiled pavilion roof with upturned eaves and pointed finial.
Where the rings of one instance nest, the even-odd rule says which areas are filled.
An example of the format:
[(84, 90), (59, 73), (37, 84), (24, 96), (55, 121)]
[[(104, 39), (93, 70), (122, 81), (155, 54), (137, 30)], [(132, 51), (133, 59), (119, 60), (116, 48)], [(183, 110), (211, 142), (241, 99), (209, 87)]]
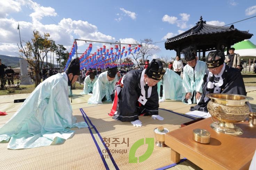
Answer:
[[(208, 25), (201, 16), (194, 27), (167, 39), (165, 49), (175, 50), (176, 55), (181, 56), (182, 49), (193, 46), (200, 59), (201, 52), (202, 57), (205, 58), (206, 51), (220, 50), (222, 45), (229, 49), (231, 45), (250, 39), (251, 36), (253, 34), (250, 34), (249, 31), (240, 31), (234, 28), (234, 25), (228, 27)], [(229, 54), (228, 51), (227, 54)]]

